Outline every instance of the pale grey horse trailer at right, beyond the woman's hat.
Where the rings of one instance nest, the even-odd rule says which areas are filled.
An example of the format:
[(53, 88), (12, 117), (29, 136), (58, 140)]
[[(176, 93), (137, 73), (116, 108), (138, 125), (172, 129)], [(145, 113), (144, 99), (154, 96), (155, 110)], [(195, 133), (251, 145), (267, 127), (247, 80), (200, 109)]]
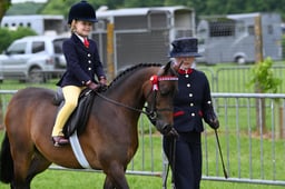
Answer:
[(261, 16), (263, 56), (282, 59), (281, 16), (277, 13), (242, 13), (205, 17), (197, 26), (198, 62), (246, 63), (255, 61), (255, 18)]

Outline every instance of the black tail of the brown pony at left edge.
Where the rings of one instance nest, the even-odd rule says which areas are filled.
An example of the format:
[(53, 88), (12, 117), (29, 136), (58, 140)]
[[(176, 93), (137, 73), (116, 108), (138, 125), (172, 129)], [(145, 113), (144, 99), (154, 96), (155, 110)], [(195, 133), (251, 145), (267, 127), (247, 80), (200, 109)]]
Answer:
[(10, 150), (10, 142), (7, 133), (2, 141), (2, 148), (0, 152), (0, 181), (10, 183), (13, 178), (13, 161)]

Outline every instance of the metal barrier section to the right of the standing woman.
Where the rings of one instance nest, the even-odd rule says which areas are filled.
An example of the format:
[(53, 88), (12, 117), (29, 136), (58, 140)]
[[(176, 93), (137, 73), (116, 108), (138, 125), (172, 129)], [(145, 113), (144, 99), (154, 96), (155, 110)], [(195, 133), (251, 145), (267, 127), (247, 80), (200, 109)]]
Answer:
[[(204, 178), (285, 186), (285, 94), (213, 93), (220, 121), (220, 141), (229, 179), (224, 179), (216, 143), (204, 140)], [(264, 107), (257, 107), (264, 101)], [(258, 115), (264, 109), (265, 115)], [(257, 118), (265, 122), (258, 125)], [(210, 152), (216, 148), (216, 155)], [(210, 156), (216, 156), (213, 160)], [(212, 163), (216, 166), (213, 167)], [(215, 170), (215, 171), (213, 171)], [(214, 177), (213, 177), (214, 176)]]

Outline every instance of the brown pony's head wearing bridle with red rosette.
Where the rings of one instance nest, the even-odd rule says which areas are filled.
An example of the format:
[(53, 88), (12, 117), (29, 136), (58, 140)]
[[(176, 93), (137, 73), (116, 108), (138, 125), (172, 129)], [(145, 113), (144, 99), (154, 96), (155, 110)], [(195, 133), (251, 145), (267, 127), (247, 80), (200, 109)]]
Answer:
[(173, 99), (178, 89), (177, 70), (179, 66), (168, 62), (151, 76), (149, 88), (145, 90), (147, 99), (148, 118), (163, 135), (174, 131), (173, 128)]

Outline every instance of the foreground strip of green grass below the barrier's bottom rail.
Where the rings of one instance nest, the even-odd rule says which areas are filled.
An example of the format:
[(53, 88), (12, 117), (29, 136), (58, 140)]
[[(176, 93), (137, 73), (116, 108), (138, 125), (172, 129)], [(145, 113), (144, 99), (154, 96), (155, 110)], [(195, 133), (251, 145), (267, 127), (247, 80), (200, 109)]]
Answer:
[[(47, 170), (32, 182), (33, 189), (100, 189), (104, 175), (96, 172), (75, 172)], [(160, 189), (161, 179), (156, 177), (127, 176), (131, 189)], [(169, 181), (170, 179), (168, 179)], [(0, 183), (1, 189), (9, 189), (8, 185)], [(167, 188), (170, 189), (170, 182)], [(202, 181), (202, 189), (283, 189), (278, 186), (262, 186), (249, 183)]]

